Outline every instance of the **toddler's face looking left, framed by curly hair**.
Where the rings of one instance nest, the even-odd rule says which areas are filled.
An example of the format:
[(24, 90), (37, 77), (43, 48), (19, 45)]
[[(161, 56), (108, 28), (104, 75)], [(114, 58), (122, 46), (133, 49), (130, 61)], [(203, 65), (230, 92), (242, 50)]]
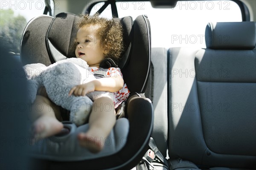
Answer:
[(105, 58), (100, 37), (97, 36), (99, 26), (81, 27), (76, 33), (76, 57), (87, 62), (90, 67), (99, 67)]

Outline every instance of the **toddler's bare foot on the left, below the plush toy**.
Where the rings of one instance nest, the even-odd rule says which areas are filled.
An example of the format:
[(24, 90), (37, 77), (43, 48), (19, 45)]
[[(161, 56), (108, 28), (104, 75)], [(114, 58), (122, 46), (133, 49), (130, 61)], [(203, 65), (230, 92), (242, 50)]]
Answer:
[(32, 135), (36, 138), (46, 138), (61, 132), (63, 124), (51, 116), (41, 116), (32, 125)]

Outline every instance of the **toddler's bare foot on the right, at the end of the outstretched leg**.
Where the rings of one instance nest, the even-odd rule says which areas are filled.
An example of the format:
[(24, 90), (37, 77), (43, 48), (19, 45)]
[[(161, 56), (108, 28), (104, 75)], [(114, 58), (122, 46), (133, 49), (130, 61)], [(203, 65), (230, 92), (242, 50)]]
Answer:
[(79, 144), (91, 153), (98, 153), (104, 147), (105, 135), (100, 129), (90, 129), (87, 133), (78, 134)]

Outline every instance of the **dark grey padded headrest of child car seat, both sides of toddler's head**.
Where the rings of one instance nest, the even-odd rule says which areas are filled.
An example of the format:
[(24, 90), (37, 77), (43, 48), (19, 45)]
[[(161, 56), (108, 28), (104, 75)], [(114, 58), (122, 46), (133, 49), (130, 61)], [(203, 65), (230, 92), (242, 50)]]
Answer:
[[(52, 63), (66, 57), (76, 57), (75, 39), (76, 32), (78, 31), (76, 25), (78, 20), (79, 16), (71, 13), (60, 13), (53, 19), (46, 36), (47, 48), (51, 53), (49, 57)], [(119, 63), (116, 63), (122, 69), (128, 60), (131, 50), (133, 20), (131, 17), (114, 18), (113, 20), (119, 21), (123, 28), (124, 52), (122, 59), (120, 59)]]

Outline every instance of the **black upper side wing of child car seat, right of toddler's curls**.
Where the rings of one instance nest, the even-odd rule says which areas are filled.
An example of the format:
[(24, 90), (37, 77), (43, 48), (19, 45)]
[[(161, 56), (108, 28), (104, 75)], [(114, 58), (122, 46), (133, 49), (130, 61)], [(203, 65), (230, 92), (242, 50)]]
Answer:
[[(144, 93), (151, 60), (151, 32), (148, 18), (140, 15), (134, 20), (130, 57), (122, 74), (131, 92)], [(134, 81), (136, 80), (136, 81)]]

